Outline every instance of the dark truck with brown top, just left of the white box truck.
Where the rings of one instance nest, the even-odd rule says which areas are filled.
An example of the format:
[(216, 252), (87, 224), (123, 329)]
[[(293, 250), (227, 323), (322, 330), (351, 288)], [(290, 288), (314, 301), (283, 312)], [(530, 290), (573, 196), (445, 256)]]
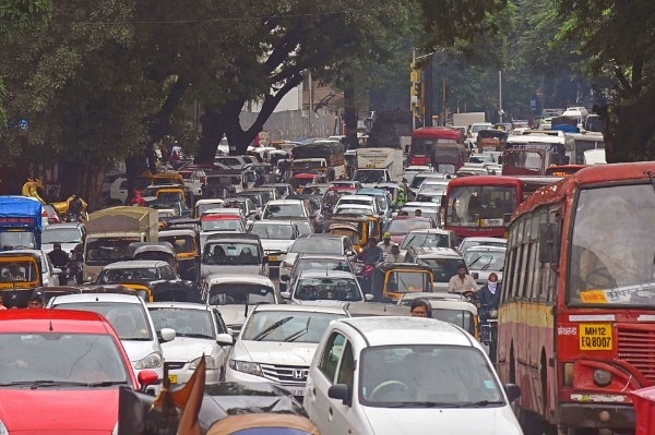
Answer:
[(298, 145), (291, 150), (290, 177), (296, 173), (321, 172), (327, 181), (346, 174), (345, 147), (337, 141), (314, 141)]

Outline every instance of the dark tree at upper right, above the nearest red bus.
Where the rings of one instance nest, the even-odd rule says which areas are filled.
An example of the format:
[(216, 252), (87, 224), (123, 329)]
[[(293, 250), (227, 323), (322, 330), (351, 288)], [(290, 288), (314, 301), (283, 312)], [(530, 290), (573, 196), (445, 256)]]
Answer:
[(580, 41), (577, 51), (599, 85), (607, 161), (655, 158), (655, 2), (555, 0), (563, 25), (558, 41)]

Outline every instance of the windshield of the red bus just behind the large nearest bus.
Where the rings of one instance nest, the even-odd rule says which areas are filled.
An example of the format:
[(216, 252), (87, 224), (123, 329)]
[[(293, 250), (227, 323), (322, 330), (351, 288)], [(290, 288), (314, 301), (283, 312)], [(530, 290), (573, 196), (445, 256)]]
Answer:
[(448, 194), (446, 225), (502, 227), (516, 209), (516, 186), (462, 185)]

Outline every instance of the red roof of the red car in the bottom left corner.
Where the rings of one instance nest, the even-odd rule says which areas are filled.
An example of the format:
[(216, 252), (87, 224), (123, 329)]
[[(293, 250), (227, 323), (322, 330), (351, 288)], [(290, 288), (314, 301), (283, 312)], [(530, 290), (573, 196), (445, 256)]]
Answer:
[(99, 314), (82, 310), (7, 310), (0, 331), (49, 331), (110, 334), (109, 323)]

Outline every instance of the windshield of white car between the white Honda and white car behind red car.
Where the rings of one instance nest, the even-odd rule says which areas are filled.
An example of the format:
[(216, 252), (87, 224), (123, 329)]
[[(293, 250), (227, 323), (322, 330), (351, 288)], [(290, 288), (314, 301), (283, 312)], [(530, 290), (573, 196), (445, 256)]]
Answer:
[(175, 306), (150, 306), (155, 330), (175, 329), (176, 337), (215, 338), (212, 312), (207, 310), (189, 310)]

